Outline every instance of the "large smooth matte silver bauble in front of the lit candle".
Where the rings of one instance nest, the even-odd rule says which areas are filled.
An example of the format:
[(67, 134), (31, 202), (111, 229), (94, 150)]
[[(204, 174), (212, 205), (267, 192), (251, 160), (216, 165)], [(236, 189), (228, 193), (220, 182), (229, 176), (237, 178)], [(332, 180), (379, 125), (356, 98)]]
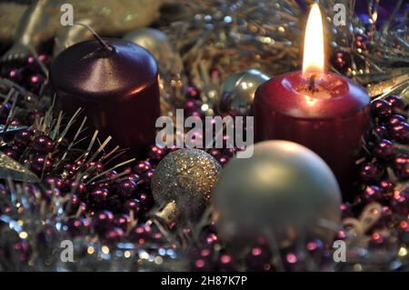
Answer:
[(340, 225), (341, 192), (323, 159), (288, 141), (246, 150), (254, 155), (232, 159), (214, 188), (222, 239), (235, 249), (261, 235), (278, 246), (307, 236), (331, 241)]

